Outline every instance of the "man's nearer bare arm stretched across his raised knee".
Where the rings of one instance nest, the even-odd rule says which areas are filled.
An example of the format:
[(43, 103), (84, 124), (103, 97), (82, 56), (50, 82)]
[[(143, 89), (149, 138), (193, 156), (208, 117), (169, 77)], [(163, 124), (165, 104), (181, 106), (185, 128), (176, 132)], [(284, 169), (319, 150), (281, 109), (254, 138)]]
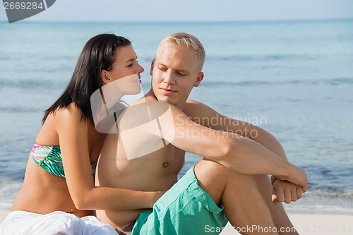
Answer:
[[(217, 131), (202, 126), (171, 104), (149, 102), (150, 113), (158, 114), (167, 105), (163, 115), (158, 116), (157, 132), (162, 138), (181, 150), (192, 152), (241, 174), (273, 174), (277, 179), (296, 183), (306, 188), (305, 171), (282, 159), (260, 143), (227, 131)], [(155, 110), (154, 110), (155, 109)], [(153, 115), (152, 115), (153, 116)], [(160, 129), (160, 131), (158, 131)]]

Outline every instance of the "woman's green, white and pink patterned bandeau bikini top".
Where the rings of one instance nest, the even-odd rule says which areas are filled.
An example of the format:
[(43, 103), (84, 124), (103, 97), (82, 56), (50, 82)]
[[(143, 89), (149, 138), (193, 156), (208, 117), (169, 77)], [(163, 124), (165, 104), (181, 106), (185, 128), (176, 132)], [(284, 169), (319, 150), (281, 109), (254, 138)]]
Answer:
[[(37, 145), (37, 143), (35, 143), (35, 145), (32, 147), (32, 150), (30, 151), (30, 157), (32, 157), (35, 163), (48, 171), (50, 174), (65, 178), (60, 145), (43, 146)], [(97, 162), (92, 163), (91, 166), (94, 178)]]

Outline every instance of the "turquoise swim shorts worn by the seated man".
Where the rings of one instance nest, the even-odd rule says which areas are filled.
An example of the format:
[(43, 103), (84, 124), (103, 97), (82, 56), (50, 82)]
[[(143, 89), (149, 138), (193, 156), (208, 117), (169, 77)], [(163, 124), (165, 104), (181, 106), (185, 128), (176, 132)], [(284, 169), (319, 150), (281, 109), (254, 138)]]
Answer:
[(222, 228), (227, 224), (223, 206), (218, 207), (198, 186), (193, 168), (157, 200), (153, 209), (140, 213), (133, 235), (220, 234), (219, 230), (210, 228)]

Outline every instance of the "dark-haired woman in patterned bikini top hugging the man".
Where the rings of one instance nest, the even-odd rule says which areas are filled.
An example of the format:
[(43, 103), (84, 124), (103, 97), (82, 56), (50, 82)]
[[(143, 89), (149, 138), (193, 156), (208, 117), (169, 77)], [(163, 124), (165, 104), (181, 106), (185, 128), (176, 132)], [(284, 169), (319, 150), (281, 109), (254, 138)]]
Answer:
[[(112, 81), (124, 77), (135, 79), (133, 74), (139, 78), (143, 68), (136, 59), (131, 42), (124, 37), (102, 34), (88, 40), (68, 86), (44, 113), (43, 126), (28, 159), (23, 187), (0, 231), (49, 234), (45, 229), (55, 227), (53, 221), (61, 218), (61, 225), (66, 229), (74, 227), (68, 225), (68, 221), (78, 221), (79, 227), (85, 227), (88, 220), (93, 220), (91, 224), (104, 227), (102, 232), (107, 234), (111, 227), (87, 217), (94, 215), (92, 210), (150, 208), (160, 198), (162, 192), (97, 187), (94, 182), (105, 134), (95, 128), (90, 97)], [(86, 217), (83, 219), (86, 224), (79, 217)], [(90, 234), (89, 229), (84, 234)]]

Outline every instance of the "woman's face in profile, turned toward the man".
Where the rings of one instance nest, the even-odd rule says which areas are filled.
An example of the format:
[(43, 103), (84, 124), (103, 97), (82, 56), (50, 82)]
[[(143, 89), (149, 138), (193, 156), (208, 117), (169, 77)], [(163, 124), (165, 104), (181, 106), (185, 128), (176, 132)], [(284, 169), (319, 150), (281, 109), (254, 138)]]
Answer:
[(143, 68), (138, 64), (133, 47), (131, 45), (119, 47), (115, 52), (112, 70), (107, 71), (108, 83), (116, 83), (114, 87), (124, 95), (138, 94), (141, 91), (140, 73), (142, 72)]

